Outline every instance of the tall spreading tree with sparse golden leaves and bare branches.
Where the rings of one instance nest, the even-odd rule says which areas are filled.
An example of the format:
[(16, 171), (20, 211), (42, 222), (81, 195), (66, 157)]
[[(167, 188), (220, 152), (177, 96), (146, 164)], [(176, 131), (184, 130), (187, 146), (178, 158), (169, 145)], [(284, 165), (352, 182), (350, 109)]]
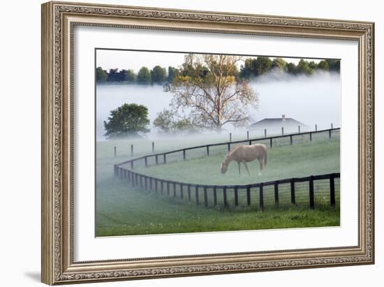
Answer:
[(196, 128), (221, 131), (223, 125), (241, 126), (256, 107), (256, 93), (246, 80), (237, 78), (242, 57), (189, 54), (179, 75), (165, 86), (172, 93), (171, 110)]

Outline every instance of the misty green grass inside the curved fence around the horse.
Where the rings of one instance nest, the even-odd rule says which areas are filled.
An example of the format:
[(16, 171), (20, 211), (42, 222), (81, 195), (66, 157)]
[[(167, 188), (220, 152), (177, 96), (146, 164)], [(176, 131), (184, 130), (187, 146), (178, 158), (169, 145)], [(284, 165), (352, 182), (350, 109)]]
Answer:
[(152, 165), (149, 168), (141, 166), (135, 170), (145, 175), (194, 184), (252, 184), (340, 170), (338, 138), (268, 149), (267, 167), (265, 173), (260, 176), (258, 161), (248, 163), (251, 175), (246, 172), (244, 165), (241, 165), (242, 173), (239, 175), (236, 162), (230, 163), (228, 171), (222, 175), (220, 164), (226, 154), (224, 147), (214, 155), (199, 156), (187, 161), (182, 161), (180, 156), (179, 161), (168, 162), (166, 165)]

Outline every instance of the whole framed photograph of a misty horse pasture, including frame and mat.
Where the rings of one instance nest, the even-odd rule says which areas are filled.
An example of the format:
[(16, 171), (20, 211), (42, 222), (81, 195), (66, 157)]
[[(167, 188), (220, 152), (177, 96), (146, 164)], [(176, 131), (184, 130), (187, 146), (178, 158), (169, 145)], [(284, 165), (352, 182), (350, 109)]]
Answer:
[(374, 263), (374, 23), (42, 6), (42, 281)]

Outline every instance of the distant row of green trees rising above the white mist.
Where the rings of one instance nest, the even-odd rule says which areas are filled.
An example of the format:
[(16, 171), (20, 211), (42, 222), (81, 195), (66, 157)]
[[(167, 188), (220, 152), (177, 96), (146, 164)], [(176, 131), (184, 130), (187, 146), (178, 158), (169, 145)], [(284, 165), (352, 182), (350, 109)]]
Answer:
[[(207, 67), (202, 67), (202, 73), (207, 73)], [(205, 72), (204, 72), (205, 71)], [(260, 75), (271, 71), (285, 72), (291, 75), (311, 75), (315, 71), (330, 71), (340, 73), (340, 61), (335, 59), (324, 59), (316, 63), (300, 59), (297, 64), (287, 62), (281, 58), (271, 59), (269, 57), (246, 58), (244, 64), (233, 68), (232, 75), (237, 80), (252, 80)], [(106, 71), (101, 67), (96, 68), (96, 82), (120, 82), (128, 84), (166, 84), (172, 82), (176, 76), (185, 74), (185, 68), (169, 66), (168, 69), (154, 66), (149, 69), (142, 67), (135, 73), (133, 69), (111, 68)], [(202, 74), (204, 75), (204, 74)]]

